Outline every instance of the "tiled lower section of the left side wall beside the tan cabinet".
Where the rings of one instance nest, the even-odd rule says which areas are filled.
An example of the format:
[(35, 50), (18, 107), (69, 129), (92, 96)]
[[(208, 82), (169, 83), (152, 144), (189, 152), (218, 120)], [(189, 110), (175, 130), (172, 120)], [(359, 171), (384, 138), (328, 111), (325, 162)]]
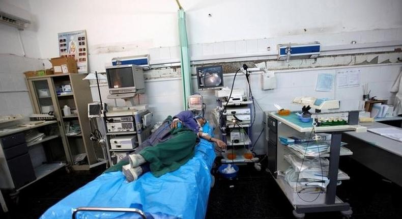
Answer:
[(41, 69), (42, 61), (0, 54), (0, 114), (32, 114), (32, 104), (24, 80), (24, 71)]

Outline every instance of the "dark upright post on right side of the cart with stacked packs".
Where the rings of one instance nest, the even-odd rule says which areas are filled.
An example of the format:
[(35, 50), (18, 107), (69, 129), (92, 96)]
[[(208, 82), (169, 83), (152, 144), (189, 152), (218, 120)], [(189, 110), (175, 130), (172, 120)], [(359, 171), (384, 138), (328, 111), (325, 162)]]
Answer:
[(341, 140), (342, 140), (341, 132), (332, 132), (331, 152), (329, 155), (329, 169), (328, 169), (329, 184), (327, 186), (327, 193), (325, 197), (326, 204), (335, 203), (336, 184), (338, 182), (338, 168), (339, 168), (339, 154), (340, 154)]

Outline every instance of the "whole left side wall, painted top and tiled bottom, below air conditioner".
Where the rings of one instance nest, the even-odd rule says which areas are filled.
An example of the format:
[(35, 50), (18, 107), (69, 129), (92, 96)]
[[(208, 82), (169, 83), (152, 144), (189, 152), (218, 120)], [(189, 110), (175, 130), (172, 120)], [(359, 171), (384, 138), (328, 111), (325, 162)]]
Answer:
[[(27, 0), (1, 1), (30, 10)], [(0, 24), (0, 114), (32, 114), (32, 105), (22, 73), (42, 69), (42, 60), (39, 58), (35, 31), (18, 31), (11, 26)]]

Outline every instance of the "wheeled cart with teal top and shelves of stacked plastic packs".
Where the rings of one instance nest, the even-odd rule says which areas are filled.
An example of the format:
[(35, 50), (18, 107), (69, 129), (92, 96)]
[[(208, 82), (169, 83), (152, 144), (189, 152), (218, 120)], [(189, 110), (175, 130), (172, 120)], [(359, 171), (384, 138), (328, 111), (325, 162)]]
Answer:
[[(336, 196), (338, 180), (347, 180), (349, 176), (342, 174), (338, 178), (339, 156), (352, 155), (347, 148), (341, 147), (341, 135), (343, 131), (364, 132), (367, 129), (360, 125), (337, 125), (325, 127), (312, 127), (311, 123), (299, 122), (294, 112), (289, 116), (279, 116), (276, 112), (266, 112), (267, 145), (268, 145), (268, 171), (289, 199), (294, 207), (293, 214), (296, 218), (304, 218), (305, 213), (340, 211), (344, 217), (349, 218), (352, 210), (349, 203), (342, 202)], [(286, 154), (295, 154), (288, 146), (281, 144), (279, 136), (298, 136), (300, 133), (329, 133), (331, 134), (329, 153), (329, 184), (326, 191), (318, 193), (297, 193), (285, 181), (283, 172), (291, 165), (284, 158)], [(304, 157), (304, 155), (302, 155)], [(301, 157), (301, 158), (303, 158)], [(319, 196), (318, 196), (319, 195)]]

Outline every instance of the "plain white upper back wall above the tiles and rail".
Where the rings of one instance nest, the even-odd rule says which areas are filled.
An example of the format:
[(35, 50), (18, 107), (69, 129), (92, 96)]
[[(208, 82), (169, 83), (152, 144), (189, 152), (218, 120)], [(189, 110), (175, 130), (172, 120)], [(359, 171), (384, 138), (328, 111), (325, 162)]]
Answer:
[[(376, 0), (180, 2), (187, 15), (192, 58), (267, 52), (268, 46), (275, 54), (278, 43), (289, 42), (318, 40), (328, 46), (350, 45), (352, 40), (360, 44), (402, 39), (402, 2), (398, 0), (386, 4)], [(30, 3), (42, 58), (59, 55), (58, 33), (85, 29), (91, 71), (104, 69), (113, 57), (134, 54), (149, 53), (151, 63), (180, 61), (177, 6), (173, 0)], [(348, 34), (352, 32), (355, 34)]]

